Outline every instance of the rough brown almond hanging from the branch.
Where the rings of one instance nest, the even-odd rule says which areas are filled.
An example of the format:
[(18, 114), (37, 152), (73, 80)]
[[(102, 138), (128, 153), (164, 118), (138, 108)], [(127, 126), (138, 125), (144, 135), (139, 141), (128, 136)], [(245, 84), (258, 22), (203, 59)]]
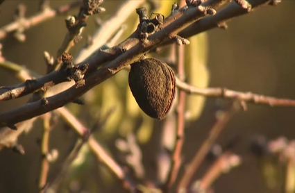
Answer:
[(164, 119), (176, 94), (171, 67), (155, 58), (139, 60), (131, 64), (128, 81), (133, 97), (146, 115)]

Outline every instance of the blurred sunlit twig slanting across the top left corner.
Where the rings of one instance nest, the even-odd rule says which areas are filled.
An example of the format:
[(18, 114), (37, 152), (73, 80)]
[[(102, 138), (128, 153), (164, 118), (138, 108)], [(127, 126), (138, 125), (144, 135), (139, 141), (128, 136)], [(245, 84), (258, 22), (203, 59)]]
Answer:
[(24, 18), (22, 20), (22, 23), (20, 23), (19, 21), (15, 21), (10, 24), (7, 24), (6, 26), (0, 28), (0, 40), (3, 40), (8, 35), (8, 33), (16, 31), (18, 28), (22, 26), (24, 26), (25, 30), (27, 30), (28, 28), (36, 26), (37, 24), (40, 24), (46, 21), (47, 19), (53, 18), (56, 15), (61, 15), (73, 8), (77, 8), (78, 6), (81, 6), (81, 4), (82, 1), (74, 1), (65, 6), (60, 6), (56, 9), (46, 8), (41, 12), (38, 12), (36, 15), (33, 15), (32, 17), (29, 17), (27, 19)]

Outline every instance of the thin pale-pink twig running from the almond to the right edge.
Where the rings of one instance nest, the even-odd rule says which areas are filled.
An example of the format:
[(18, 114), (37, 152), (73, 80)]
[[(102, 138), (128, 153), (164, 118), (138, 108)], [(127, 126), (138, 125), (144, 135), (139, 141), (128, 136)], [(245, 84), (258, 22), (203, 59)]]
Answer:
[(221, 97), (226, 99), (239, 99), (248, 103), (262, 104), (268, 106), (295, 106), (295, 100), (278, 99), (275, 97), (268, 97), (252, 92), (239, 92), (235, 90), (228, 90), (221, 87), (207, 87), (199, 88), (180, 81), (176, 78), (177, 87), (189, 94), (200, 94), (205, 97)]

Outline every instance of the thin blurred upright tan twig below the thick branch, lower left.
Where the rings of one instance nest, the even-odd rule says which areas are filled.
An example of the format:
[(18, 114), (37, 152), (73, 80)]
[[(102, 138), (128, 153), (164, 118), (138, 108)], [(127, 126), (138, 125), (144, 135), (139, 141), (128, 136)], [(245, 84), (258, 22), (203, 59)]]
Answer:
[(39, 190), (44, 192), (42, 189), (47, 183), (47, 175), (49, 171), (49, 161), (47, 160), (47, 155), (49, 153), (49, 134), (50, 134), (50, 117), (51, 113), (47, 113), (43, 118), (43, 133), (41, 139), (41, 169), (39, 176)]

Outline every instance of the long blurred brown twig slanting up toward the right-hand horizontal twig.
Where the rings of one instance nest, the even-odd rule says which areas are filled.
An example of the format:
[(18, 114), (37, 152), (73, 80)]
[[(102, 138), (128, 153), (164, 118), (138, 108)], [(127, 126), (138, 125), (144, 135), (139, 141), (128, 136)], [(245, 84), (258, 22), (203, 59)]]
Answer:
[(219, 137), (221, 131), (224, 129), (231, 117), (237, 112), (240, 107), (240, 101), (234, 101), (233, 104), (224, 112), (221, 117), (217, 120), (214, 126), (211, 128), (209, 136), (200, 146), (199, 150), (194, 155), (191, 162), (185, 167), (185, 174), (180, 179), (178, 184), (178, 191), (185, 192), (187, 185), (192, 181), (192, 176), (196, 173), (196, 170), (200, 167), (201, 162), (207, 155), (210, 147)]

